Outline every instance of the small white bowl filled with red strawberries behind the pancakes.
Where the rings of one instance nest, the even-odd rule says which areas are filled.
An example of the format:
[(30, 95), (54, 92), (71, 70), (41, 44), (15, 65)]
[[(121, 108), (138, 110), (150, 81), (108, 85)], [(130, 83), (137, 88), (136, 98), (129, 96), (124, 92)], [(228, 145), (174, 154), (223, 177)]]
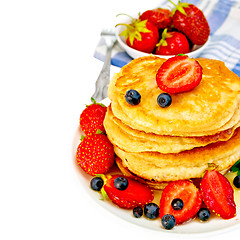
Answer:
[(194, 4), (170, 2), (174, 5), (171, 11), (151, 9), (137, 17), (119, 14), (124, 20), (116, 25), (116, 37), (130, 57), (186, 54), (194, 58), (206, 48), (210, 28), (204, 13)]

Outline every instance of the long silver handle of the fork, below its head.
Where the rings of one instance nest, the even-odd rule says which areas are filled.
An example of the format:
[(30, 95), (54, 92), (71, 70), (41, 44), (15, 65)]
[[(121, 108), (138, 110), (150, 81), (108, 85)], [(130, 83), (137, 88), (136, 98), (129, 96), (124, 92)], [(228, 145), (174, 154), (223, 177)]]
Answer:
[(112, 53), (112, 46), (107, 46), (107, 51), (104, 59), (104, 64), (102, 70), (97, 78), (95, 83), (95, 93), (93, 94), (92, 98), (94, 98), (97, 102), (101, 101), (102, 99), (106, 98), (108, 93), (108, 83), (110, 80), (110, 65), (111, 65), (111, 53)]

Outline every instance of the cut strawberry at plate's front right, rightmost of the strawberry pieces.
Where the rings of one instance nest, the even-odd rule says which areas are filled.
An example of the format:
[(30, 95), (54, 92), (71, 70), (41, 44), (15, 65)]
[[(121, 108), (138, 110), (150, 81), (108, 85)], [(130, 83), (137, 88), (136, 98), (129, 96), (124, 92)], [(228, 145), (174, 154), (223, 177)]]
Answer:
[(206, 171), (200, 190), (209, 210), (223, 219), (233, 218), (236, 215), (233, 188), (221, 173), (216, 170)]

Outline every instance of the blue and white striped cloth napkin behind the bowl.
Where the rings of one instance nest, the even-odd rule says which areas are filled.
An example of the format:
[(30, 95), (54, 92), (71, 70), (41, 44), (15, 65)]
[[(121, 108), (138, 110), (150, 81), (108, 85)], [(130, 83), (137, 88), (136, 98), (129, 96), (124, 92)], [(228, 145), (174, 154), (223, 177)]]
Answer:
[[(168, 7), (167, 0), (159, 1), (159, 6)], [(185, 0), (198, 6), (205, 14), (210, 30), (211, 41), (197, 57), (218, 59), (240, 76), (240, 0)], [(101, 39), (96, 47), (94, 57), (103, 61), (105, 43)], [(111, 63), (123, 67), (132, 60), (116, 44), (112, 51)]]

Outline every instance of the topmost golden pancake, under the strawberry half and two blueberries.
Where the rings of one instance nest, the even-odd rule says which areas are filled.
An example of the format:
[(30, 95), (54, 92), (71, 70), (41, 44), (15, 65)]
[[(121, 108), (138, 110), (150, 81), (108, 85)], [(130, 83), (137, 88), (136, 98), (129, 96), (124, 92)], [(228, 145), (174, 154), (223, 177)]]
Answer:
[[(110, 82), (113, 114), (133, 129), (160, 135), (205, 136), (235, 126), (240, 121), (239, 77), (221, 61), (196, 60), (203, 68), (200, 84), (189, 92), (171, 94), (167, 108), (157, 103), (163, 91), (156, 83), (156, 73), (166, 59), (150, 55), (133, 60)], [(136, 106), (125, 100), (129, 89), (141, 94)]]

